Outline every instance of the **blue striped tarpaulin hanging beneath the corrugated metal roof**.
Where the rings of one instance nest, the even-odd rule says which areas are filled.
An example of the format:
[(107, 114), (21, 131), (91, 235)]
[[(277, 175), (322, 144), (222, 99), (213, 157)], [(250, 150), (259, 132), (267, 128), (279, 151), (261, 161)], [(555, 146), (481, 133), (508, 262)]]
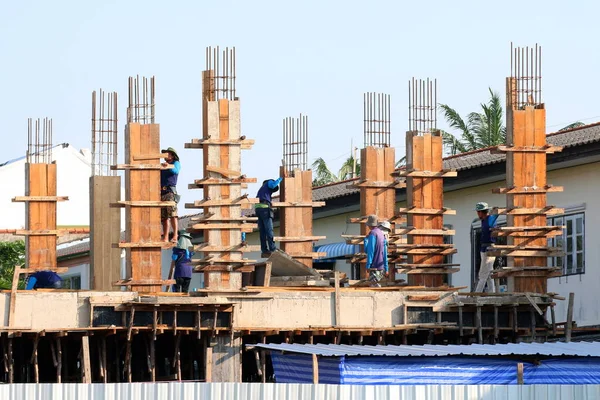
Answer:
[[(272, 353), (279, 383), (312, 383), (312, 356)], [(354, 385), (508, 385), (518, 360), (490, 357), (320, 357), (319, 382)], [(525, 384), (600, 384), (600, 358), (523, 362)]]

